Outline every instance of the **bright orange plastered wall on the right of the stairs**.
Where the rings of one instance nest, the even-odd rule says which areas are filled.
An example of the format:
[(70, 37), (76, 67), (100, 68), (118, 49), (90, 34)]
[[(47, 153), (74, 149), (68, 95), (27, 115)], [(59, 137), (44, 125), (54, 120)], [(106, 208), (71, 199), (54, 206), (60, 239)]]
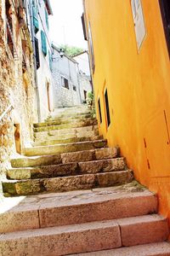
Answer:
[(170, 61), (159, 2), (141, 2), (147, 34), (138, 53), (130, 0), (84, 0), (103, 119), (105, 85), (110, 102), (111, 125), (107, 131), (104, 120), (99, 131), (110, 146), (120, 146), (137, 180), (158, 193), (160, 212), (170, 218)]

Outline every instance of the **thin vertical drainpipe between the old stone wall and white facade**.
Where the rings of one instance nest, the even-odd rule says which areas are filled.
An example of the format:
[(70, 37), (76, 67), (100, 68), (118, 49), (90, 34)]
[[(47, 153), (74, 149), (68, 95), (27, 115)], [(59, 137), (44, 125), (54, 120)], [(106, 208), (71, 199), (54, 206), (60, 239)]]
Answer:
[(32, 14), (32, 3), (31, 0), (29, 0), (30, 3), (30, 18), (31, 18), (31, 42), (33, 46), (33, 57), (34, 57), (34, 77), (35, 77), (35, 83), (36, 83), (36, 96), (37, 96), (37, 118), (38, 122), (41, 121), (41, 112), (40, 112), (40, 96), (39, 96), (39, 90), (38, 90), (38, 84), (37, 84), (37, 61), (36, 61), (36, 48), (35, 48), (35, 33), (34, 33), (34, 25), (33, 25), (33, 14)]

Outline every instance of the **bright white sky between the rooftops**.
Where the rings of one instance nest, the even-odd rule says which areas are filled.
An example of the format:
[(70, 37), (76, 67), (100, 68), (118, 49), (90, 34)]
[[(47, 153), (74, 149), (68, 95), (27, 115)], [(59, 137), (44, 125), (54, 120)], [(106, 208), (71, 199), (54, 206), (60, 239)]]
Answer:
[(87, 49), (82, 32), (82, 0), (50, 0), (53, 16), (49, 17), (51, 40)]

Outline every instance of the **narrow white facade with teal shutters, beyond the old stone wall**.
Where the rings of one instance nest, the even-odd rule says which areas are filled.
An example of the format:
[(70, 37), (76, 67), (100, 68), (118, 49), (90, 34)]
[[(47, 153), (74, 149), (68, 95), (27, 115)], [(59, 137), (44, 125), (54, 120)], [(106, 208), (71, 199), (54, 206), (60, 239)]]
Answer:
[(49, 0), (29, 0), (31, 3), (31, 34), (35, 53), (37, 108), (39, 121), (54, 110), (54, 85), (51, 73), (52, 48), (48, 16), (52, 15)]

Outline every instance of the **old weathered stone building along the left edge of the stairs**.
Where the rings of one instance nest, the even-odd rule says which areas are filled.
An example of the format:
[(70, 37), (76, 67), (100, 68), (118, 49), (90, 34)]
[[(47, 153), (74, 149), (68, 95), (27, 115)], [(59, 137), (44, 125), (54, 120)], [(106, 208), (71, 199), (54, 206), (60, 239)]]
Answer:
[[(24, 6), (24, 4), (26, 4)], [(25, 9), (27, 8), (27, 9)], [(9, 155), (22, 153), (37, 120), (29, 3), (0, 2), (0, 178)]]

